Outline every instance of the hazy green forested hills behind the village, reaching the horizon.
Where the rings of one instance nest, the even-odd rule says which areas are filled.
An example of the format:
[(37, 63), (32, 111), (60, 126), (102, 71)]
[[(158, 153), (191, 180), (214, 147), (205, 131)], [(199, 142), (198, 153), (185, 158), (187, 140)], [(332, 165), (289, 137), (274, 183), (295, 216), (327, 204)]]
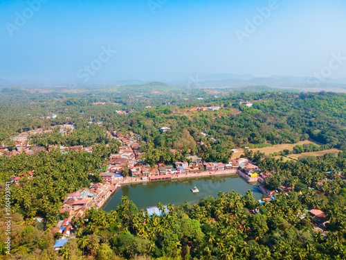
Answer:
[[(0, 141), (9, 144), (10, 135), (35, 128), (50, 129), (63, 123), (74, 123), (82, 129), (81, 135), (92, 120), (94, 123), (102, 121), (107, 130), (132, 130), (153, 146), (167, 148), (181, 146), (185, 140), (184, 129), (194, 141), (210, 143), (213, 138), (210, 144), (217, 153), (229, 153), (229, 149), (244, 146), (296, 143), (309, 137), (329, 148), (345, 148), (345, 94), (232, 94), (224, 89), (181, 94), (177, 90), (160, 90), (165, 86), (156, 83), (151, 86), (156, 86), (156, 90), (80, 89), (69, 92), (69, 96), (65, 96), (66, 92), (6, 89), (0, 99)], [(253, 101), (253, 107), (239, 105), (243, 100)], [(221, 106), (221, 110), (197, 111), (197, 107), (212, 106)], [(52, 114), (57, 117), (46, 119)], [(161, 135), (158, 130), (163, 126), (170, 127), (170, 132)], [(86, 135), (89, 134), (86, 132)], [(47, 143), (37, 140), (37, 144)], [(74, 141), (73, 144), (83, 145), (83, 142)]]

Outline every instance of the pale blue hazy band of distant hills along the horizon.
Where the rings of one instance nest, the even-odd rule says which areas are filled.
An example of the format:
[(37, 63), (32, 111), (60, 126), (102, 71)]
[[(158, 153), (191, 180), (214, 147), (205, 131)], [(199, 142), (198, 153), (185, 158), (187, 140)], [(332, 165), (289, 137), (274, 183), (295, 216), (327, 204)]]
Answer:
[[(346, 92), (346, 78), (332, 79), (295, 76), (273, 75), (271, 77), (254, 77), (248, 74), (236, 75), (233, 73), (184, 73), (175, 80), (145, 81), (145, 80), (114, 80), (101, 83), (78, 83), (80, 89), (107, 89), (109, 87), (130, 87), (134, 89), (151, 88), (156, 91), (172, 91), (176, 89), (199, 88), (230, 88), (266, 86), (275, 89), (293, 88), (307, 91)], [(6, 80), (0, 78), (0, 89), (5, 87), (25, 87), (28, 89), (68, 88), (69, 83), (48, 83), (37, 80)]]

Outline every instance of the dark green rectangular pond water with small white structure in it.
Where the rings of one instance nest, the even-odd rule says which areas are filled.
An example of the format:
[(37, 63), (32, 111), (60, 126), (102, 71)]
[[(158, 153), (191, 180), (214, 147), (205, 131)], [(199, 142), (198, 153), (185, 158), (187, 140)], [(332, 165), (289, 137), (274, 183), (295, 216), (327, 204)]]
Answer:
[[(199, 193), (192, 193), (191, 189), (196, 185)], [(185, 201), (192, 204), (197, 203), (201, 198), (213, 196), (217, 198), (219, 191), (235, 191), (244, 195), (251, 190), (256, 200), (262, 198), (262, 193), (257, 190), (255, 185), (249, 184), (238, 175), (232, 176), (210, 176), (186, 178), (181, 180), (160, 180), (144, 182), (138, 184), (127, 184), (119, 187), (102, 209), (111, 211), (116, 209), (121, 203), (122, 196), (127, 196), (132, 200), (138, 209), (156, 206), (158, 202), (163, 205), (182, 205)]]

